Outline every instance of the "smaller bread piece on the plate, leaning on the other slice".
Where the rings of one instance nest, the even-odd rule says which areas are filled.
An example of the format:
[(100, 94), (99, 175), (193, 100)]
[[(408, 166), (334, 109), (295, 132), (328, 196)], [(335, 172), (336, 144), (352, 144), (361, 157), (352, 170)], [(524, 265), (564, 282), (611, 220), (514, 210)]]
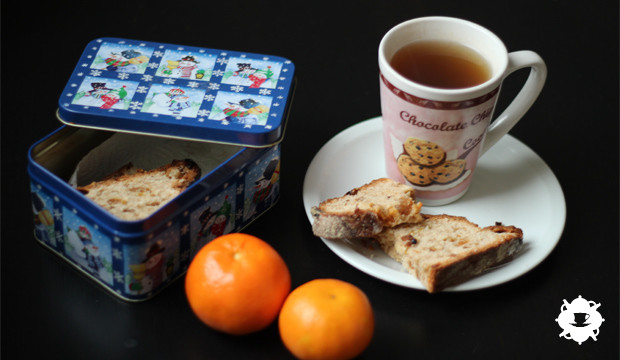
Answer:
[(371, 237), (384, 227), (422, 221), (421, 207), (411, 186), (376, 179), (313, 207), (312, 232), (326, 239)]

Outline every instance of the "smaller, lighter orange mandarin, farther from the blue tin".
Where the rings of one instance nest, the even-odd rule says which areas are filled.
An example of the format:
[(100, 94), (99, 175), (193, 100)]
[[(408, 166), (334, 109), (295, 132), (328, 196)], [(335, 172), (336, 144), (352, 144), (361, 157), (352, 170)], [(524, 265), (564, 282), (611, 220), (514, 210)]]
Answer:
[(366, 294), (337, 279), (316, 279), (293, 290), (278, 326), (286, 348), (299, 359), (351, 359), (370, 344), (374, 313)]

